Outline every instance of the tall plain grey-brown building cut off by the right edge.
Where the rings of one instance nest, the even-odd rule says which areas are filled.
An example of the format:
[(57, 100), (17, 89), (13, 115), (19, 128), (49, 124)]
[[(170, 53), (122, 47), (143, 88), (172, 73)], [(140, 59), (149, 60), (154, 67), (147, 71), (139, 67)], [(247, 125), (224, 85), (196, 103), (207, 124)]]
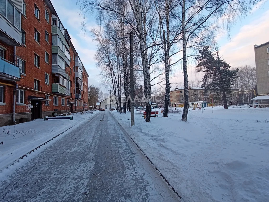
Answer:
[(257, 94), (269, 94), (269, 41), (254, 45)]

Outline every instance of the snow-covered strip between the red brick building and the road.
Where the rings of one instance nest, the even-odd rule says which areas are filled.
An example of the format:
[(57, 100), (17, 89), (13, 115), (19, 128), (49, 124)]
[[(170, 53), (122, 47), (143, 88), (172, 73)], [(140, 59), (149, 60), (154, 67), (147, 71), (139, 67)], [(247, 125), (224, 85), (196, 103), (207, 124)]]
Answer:
[(0, 142), (3, 144), (0, 145), (0, 170), (66, 129), (83, 124), (89, 117), (98, 112), (87, 112), (83, 115), (79, 112), (72, 115), (73, 120), (44, 121), (44, 119), (36, 119), (15, 126), (1, 127)]

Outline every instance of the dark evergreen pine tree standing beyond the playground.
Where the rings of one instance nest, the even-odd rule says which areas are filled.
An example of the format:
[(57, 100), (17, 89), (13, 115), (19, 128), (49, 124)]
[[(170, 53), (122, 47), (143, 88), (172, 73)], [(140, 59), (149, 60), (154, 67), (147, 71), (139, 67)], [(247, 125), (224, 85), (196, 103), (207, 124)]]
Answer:
[(199, 50), (199, 54), (200, 56), (196, 57), (196, 71), (204, 73), (201, 88), (213, 93), (221, 93), (224, 109), (228, 109), (226, 93), (231, 91), (239, 68), (231, 70), (231, 66), (221, 59), (217, 48), (215, 48), (215, 51), (211, 51), (206, 46)]

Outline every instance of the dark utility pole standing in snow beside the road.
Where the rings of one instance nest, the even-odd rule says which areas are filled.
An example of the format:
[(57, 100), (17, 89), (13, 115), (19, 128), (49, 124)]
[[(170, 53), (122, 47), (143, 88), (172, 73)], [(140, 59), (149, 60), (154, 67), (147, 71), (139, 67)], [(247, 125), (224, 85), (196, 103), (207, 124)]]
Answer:
[(134, 126), (134, 54), (133, 54), (133, 36), (134, 33), (130, 32), (130, 82), (131, 82), (131, 127)]

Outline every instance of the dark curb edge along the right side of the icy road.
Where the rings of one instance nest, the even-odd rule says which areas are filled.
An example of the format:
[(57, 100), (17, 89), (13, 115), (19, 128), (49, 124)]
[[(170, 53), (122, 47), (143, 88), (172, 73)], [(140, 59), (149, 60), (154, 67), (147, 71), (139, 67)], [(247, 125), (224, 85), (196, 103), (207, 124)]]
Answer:
[[(150, 160), (150, 158), (148, 158), (148, 156), (145, 154), (145, 152), (143, 152), (143, 150), (139, 147), (139, 145), (133, 140), (133, 138), (129, 135), (129, 133), (125, 130), (124, 127), (122, 127), (122, 125), (119, 123), (119, 121), (111, 114), (111, 116), (116, 120), (116, 122), (119, 124), (119, 126), (122, 128), (122, 130), (124, 131), (125, 135), (132, 140), (133, 144), (136, 146), (136, 148), (146, 157), (146, 159), (150, 162), (150, 164), (155, 168), (155, 170), (159, 173), (159, 175), (162, 177), (162, 179), (164, 179), (165, 183), (168, 185), (168, 187), (170, 187), (172, 189), (172, 191), (176, 194), (176, 196), (178, 196), (179, 200), (183, 200), (183, 198), (181, 196), (179, 196), (178, 192), (175, 190), (174, 187), (172, 187), (172, 185), (169, 183), (169, 181), (164, 177), (164, 175), (162, 175), (161, 171), (154, 165), (154, 163)], [(184, 201), (184, 200), (183, 200)]]

